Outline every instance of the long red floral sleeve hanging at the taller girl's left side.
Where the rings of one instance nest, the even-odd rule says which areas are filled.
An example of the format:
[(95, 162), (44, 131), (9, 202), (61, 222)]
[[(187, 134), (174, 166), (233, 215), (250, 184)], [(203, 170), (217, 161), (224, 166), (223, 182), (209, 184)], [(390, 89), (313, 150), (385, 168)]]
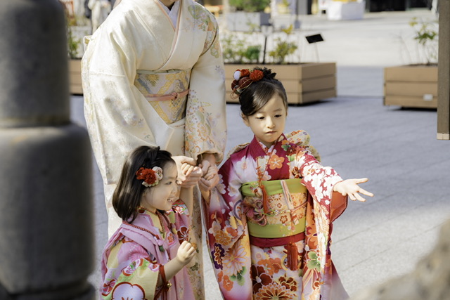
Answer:
[(213, 269), (224, 299), (252, 299), (250, 243), (242, 212), (242, 181), (228, 160), (221, 180), (205, 204), (205, 222)]

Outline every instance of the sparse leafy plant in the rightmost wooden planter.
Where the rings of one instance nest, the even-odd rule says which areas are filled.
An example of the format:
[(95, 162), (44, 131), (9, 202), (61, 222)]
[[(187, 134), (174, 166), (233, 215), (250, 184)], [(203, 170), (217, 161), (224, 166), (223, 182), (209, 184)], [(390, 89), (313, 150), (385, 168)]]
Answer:
[(427, 61), (426, 64), (435, 65), (437, 63), (438, 21), (424, 21), (414, 17), (409, 25), (415, 31), (414, 39), (422, 48), (423, 57)]

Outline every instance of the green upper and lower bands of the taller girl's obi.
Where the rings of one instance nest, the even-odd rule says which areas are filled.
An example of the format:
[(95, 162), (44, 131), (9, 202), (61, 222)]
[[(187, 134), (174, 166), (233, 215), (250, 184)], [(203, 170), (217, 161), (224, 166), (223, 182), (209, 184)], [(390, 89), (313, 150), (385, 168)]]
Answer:
[[(283, 183), (285, 182), (285, 187), (288, 190), (283, 188)], [(307, 193), (307, 188), (302, 185), (301, 179), (293, 178), (293, 179), (284, 179), (284, 180), (275, 180), (275, 181), (262, 181), (264, 188), (266, 190), (266, 194), (268, 197), (276, 194), (284, 194), (285, 193)], [(259, 193), (257, 193), (259, 190)], [(252, 181), (248, 183), (244, 183), (240, 192), (243, 196), (247, 197), (261, 197), (260, 196), (260, 188), (258, 181)], [(288, 200), (290, 201), (290, 200)], [(294, 224), (294, 228), (291, 227), (291, 223), (288, 222), (286, 224), (266, 224), (261, 226), (257, 223), (253, 223), (252, 221), (248, 221), (248, 231), (253, 237), (263, 237), (263, 238), (278, 238), (278, 237), (288, 237), (290, 235), (297, 235), (298, 233), (304, 232), (306, 226), (306, 217), (302, 217), (298, 219), (298, 222)]]

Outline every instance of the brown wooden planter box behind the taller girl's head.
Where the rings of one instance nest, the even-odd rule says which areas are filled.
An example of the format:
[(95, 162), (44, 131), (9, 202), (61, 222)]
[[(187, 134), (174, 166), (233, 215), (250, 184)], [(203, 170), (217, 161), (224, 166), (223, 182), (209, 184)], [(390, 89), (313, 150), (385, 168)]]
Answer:
[[(262, 65), (225, 64), (226, 102), (238, 103), (230, 98), (233, 74), (238, 69), (252, 69)], [(290, 104), (316, 102), (336, 96), (336, 63), (300, 63), (294, 65), (264, 65), (276, 73), (283, 83)]]

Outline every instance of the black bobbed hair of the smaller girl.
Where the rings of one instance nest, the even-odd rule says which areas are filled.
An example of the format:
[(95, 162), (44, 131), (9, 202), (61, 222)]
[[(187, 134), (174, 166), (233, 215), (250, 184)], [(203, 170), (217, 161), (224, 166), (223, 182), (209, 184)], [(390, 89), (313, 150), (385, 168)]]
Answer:
[(141, 167), (164, 169), (167, 163), (175, 164), (175, 161), (170, 152), (160, 150), (159, 147), (141, 146), (131, 152), (124, 162), (113, 195), (113, 207), (122, 220), (131, 223), (136, 219), (137, 208), (141, 205), (143, 192), (147, 188), (142, 184), (143, 180), (136, 179), (136, 171)]

